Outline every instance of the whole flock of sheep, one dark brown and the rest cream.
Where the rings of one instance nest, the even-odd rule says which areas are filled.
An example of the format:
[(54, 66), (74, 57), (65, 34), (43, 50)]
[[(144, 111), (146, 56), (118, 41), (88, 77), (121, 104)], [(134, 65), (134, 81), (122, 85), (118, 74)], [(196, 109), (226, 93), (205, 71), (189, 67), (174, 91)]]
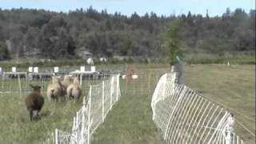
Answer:
[[(44, 104), (44, 98), (41, 94), (41, 86), (33, 86), (32, 92), (26, 96), (26, 109), (30, 114), (30, 121), (33, 120), (33, 112), (40, 112)], [(74, 99), (78, 102), (79, 98), (82, 95), (82, 90), (79, 85), (78, 77), (72, 75), (54, 76), (52, 77), (52, 82), (47, 86), (46, 90), (47, 98), (50, 101), (58, 102), (59, 98), (65, 99)]]

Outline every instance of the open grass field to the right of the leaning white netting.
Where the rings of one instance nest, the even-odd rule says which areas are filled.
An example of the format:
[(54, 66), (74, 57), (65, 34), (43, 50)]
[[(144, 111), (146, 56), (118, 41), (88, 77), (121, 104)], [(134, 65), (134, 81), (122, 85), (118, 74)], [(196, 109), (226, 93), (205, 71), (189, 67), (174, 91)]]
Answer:
[[(222, 105), (255, 134), (255, 66), (190, 65), (186, 66), (186, 83), (206, 98)], [(255, 142), (236, 122), (236, 133), (245, 142)]]

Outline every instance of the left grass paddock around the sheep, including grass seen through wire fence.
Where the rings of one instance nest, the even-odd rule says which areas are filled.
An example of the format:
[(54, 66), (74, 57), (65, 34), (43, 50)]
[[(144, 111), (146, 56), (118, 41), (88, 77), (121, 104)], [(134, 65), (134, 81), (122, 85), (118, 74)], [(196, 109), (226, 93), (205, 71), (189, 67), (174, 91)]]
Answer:
[[(75, 112), (82, 106), (80, 102), (50, 102), (46, 98), (46, 86), (50, 80), (26, 82), (21, 79), (22, 94), (18, 93), (18, 80), (5, 80), (0, 83), (0, 91), (7, 90), (11, 93), (0, 93), (0, 143), (1, 144), (36, 144), (46, 142), (51, 138), (55, 128), (70, 131), (73, 124)], [(86, 95), (90, 84), (98, 83), (98, 80), (85, 80), (82, 83), (82, 95)], [(26, 90), (31, 90), (29, 83), (44, 86), (42, 95), (45, 105), (41, 110), (41, 117), (37, 121), (30, 122), (29, 114), (25, 106)], [(4, 84), (2, 86), (2, 84)], [(12, 86), (16, 86), (14, 89)]]

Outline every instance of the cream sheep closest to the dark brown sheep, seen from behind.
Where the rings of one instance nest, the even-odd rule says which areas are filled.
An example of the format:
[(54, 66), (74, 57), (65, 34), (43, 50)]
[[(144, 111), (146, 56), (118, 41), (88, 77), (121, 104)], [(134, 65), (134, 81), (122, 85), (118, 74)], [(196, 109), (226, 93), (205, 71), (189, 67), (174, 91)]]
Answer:
[(59, 77), (52, 77), (52, 83), (47, 86), (46, 95), (50, 101), (56, 100), (56, 102), (58, 102), (58, 98), (65, 98), (62, 82)]

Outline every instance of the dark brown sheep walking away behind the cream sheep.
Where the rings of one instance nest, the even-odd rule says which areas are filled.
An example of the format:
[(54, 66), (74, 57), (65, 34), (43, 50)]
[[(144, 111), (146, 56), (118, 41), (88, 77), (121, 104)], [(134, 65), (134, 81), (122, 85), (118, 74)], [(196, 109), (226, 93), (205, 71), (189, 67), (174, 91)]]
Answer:
[(25, 103), (26, 109), (30, 113), (30, 122), (33, 120), (33, 111), (37, 111), (37, 116), (39, 115), (40, 110), (44, 104), (44, 98), (41, 94), (41, 86), (32, 86), (33, 91), (26, 96)]

